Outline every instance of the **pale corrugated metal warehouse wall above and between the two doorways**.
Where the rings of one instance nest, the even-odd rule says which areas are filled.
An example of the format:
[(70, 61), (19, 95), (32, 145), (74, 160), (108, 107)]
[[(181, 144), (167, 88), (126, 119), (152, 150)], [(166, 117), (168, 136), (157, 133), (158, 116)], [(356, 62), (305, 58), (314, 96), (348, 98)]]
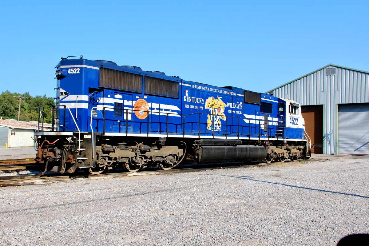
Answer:
[[(325, 75), (327, 68), (335, 68), (335, 75)], [(368, 103), (369, 73), (326, 66), (274, 89), (273, 95), (301, 105), (323, 104), (323, 153), (338, 153), (337, 104)]]

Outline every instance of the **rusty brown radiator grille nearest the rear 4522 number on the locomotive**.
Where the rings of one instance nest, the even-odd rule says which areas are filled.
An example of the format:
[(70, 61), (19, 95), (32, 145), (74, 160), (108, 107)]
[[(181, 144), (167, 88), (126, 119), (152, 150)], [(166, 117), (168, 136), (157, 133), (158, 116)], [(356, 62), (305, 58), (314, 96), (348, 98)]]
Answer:
[(142, 92), (142, 75), (100, 67), (99, 87)]

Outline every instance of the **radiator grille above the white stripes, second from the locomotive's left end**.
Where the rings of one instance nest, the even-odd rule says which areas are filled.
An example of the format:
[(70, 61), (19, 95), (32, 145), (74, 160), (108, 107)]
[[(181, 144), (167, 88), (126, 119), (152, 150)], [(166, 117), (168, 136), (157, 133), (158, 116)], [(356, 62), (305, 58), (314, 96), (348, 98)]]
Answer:
[(145, 93), (179, 98), (179, 82), (146, 76)]

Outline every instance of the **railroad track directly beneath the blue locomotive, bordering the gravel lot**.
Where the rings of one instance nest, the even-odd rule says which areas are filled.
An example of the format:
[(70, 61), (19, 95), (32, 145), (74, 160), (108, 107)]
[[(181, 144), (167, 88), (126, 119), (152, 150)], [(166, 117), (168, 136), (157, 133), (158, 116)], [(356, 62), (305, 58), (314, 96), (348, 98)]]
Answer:
[[(308, 159), (304, 161), (315, 161), (317, 159)], [(116, 170), (115, 173), (108, 173), (104, 171), (101, 174), (90, 174), (87, 172), (80, 173), (52, 173), (52, 174), (30, 174), (30, 175), (17, 175), (17, 176), (0, 176), (0, 187), (4, 186), (23, 186), (30, 184), (45, 184), (53, 181), (65, 181), (65, 180), (77, 180), (77, 179), (89, 179), (89, 178), (114, 178), (114, 177), (130, 177), (130, 176), (142, 176), (142, 175), (162, 175), (162, 174), (173, 174), (173, 173), (188, 173), (193, 171), (204, 171), (213, 169), (229, 169), (237, 167), (261, 167), (267, 165), (278, 165), (278, 164), (298, 164), (299, 162), (275, 162), (275, 163), (219, 163), (219, 164), (201, 164), (201, 165), (189, 165), (179, 166), (171, 170), (160, 170), (158, 168), (152, 168), (147, 171), (138, 171), (135, 173), (127, 172), (126, 170)], [(237, 166), (234, 166), (238, 164)], [(241, 164), (241, 165), (240, 165)]]

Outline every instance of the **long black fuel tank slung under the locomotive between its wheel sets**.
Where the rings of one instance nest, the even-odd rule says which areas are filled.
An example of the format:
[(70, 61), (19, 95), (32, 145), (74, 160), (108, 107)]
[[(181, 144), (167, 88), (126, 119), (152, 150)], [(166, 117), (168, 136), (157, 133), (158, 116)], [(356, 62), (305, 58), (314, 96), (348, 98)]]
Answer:
[(264, 146), (199, 146), (198, 163), (249, 162), (264, 160), (268, 150)]

